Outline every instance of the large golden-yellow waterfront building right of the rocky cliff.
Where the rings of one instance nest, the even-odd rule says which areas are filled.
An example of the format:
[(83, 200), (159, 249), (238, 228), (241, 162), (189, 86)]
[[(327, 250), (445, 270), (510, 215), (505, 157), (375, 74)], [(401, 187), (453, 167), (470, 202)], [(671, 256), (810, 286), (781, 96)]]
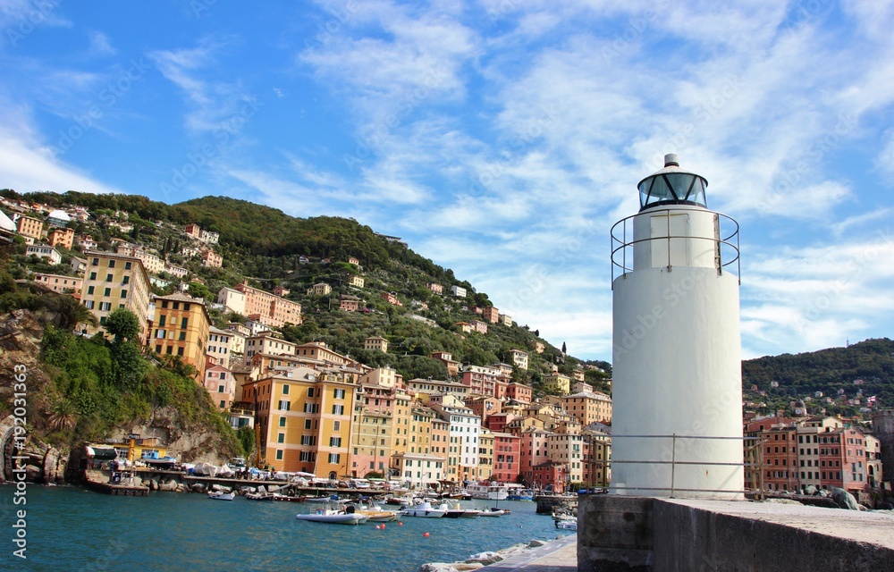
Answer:
[(350, 475), (351, 414), (357, 386), (295, 367), (246, 382), (241, 401), (257, 408), (262, 458), (280, 471)]

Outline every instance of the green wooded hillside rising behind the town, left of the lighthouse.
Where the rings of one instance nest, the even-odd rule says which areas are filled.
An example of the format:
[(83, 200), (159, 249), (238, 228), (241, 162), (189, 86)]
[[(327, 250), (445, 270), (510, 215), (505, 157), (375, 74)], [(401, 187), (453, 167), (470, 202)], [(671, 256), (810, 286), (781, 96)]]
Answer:
[[(91, 234), (99, 248), (111, 249), (111, 240), (119, 238), (135, 242), (167, 258), (173, 264), (190, 271), (204, 284), (192, 284), (190, 293), (214, 301), (223, 286), (235, 286), (248, 281), (264, 290), (282, 286), (291, 290), (286, 298), (302, 306), (305, 323), (283, 328), (283, 335), (297, 342), (325, 341), (333, 349), (370, 366), (395, 367), (406, 378), (427, 377), (444, 379), (447, 372), (443, 363), (429, 357), (434, 351), (447, 351), (463, 364), (489, 365), (511, 363), (510, 349), (522, 349), (530, 355), (526, 370), (517, 369), (514, 377), (540, 389), (540, 382), (558, 366), (570, 374), (579, 362), (539, 337), (539, 332), (527, 325), (488, 324), (486, 334), (460, 333), (455, 324), (481, 319), (471, 307), (492, 306), (485, 292), (478, 292), (467, 281), (458, 280), (450, 269), (417, 255), (406, 245), (385, 240), (368, 226), (357, 221), (332, 216), (295, 218), (269, 206), (223, 198), (198, 198), (176, 205), (149, 200), (133, 195), (93, 195), (69, 191), (30, 193), (24, 197), (11, 190), (0, 194), (49, 206), (87, 206), (88, 223), (72, 223), (79, 234)], [(126, 221), (134, 228), (123, 234), (116, 223)], [(198, 259), (183, 256), (182, 247), (195, 246), (183, 227), (197, 223), (207, 231), (220, 234), (215, 252), (223, 256), (223, 268), (206, 268)], [(77, 252), (63, 253), (67, 259)], [(359, 265), (349, 264), (355, 257)], [(37, 261), (21, 260), (34, 270), (47, 271)], [(349, 286), (351, 276), (362, 276), (363, 288)], [(24, 276), (23, 273), (16, 277)], [(156, 287), (156, 293), (173, 290), (179, 281), (162, 274), (171, 282), (167, 288)], [(325, 282), (332, 291), (325, 296), (308, 294), (308, 289)], [(426, 283), (443, 286), (443, 295), (434, 294)], [(464, 299), (449, 294), (452, 285), (468, 290)], [(384, 299), (388, 293), (401, 301), (401, 306)], [(339, 301), (345, 296), (356, 296), (361, 311), (345, 312)], [(499, 303), (496, 303), (499, 306)], [(223, 327), (228, 320), (239, 316), (227, 315), (212, 308), (215, 324)], [(363, 340), (379, 335), (389, 341), (388, 353), (362, 349)], [(542, 343), (542, 354), (536, 352)], [(611, 367), (601, 362), (604, 370), (588, 372), (589, 381), (607, 389), (604, 379)]]

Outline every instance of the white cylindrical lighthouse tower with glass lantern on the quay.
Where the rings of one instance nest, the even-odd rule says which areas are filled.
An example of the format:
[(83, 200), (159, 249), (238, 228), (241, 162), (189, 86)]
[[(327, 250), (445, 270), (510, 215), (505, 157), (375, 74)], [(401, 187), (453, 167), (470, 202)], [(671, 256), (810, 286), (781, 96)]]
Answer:
[(743, 498), (738, 223), (676, 155), (611, 229), (613, 494)]

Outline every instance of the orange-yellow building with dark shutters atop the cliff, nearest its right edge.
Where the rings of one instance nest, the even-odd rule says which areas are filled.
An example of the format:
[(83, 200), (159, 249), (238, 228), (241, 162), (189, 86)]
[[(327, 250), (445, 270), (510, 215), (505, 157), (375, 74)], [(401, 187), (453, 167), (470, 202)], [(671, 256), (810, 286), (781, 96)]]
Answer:
[(204, 384), (210, 328), (205, 300), (185, 294), (156, 296), (149, 347), (162, 356), (181, 357), (183, 363), (196, 368), (196, 379)]

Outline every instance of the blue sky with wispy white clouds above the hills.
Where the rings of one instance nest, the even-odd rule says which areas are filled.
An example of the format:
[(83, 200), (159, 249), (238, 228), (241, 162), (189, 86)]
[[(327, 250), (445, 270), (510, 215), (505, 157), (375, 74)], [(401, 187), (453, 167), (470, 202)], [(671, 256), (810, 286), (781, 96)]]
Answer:
[(352, 216), (611, 359), (609, 229), (676, 152), (741, 225), (744, 355), (840, 346), (894, 317), (891, 29), (856, 1), (4, 0), (0, 187)]

